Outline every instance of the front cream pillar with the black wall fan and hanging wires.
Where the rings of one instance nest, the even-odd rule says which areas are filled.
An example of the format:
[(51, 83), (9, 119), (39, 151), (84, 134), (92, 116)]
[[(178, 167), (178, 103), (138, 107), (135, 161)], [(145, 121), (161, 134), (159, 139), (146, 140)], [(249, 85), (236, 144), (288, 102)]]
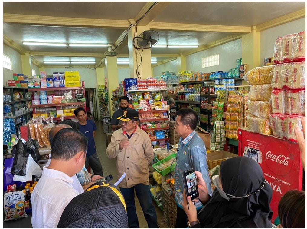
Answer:
[[(131, 29), (128, 31), (129, 66), (131, 78), (141, 77), (142, 79), (146, 79), (147, 77), (152, 76), (150, 49), (135, 49), (133, 46), (133, 38), (139, 36), (145, 30), (150, 30), (149, 25), (137, 26), (136, 34), (135, 26), (131, 27)], [(140, 65), (140, 54), (142, 54), (142, 65)], [(140, 75), (137, 75), (137, 72), (139, 72)]]

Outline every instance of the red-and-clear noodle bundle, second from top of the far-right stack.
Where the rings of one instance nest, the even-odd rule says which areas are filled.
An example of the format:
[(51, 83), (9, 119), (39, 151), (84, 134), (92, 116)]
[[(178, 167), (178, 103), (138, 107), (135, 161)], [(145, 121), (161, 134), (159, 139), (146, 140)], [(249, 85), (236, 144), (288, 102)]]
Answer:
[(305, 88), (305, 61), (275, 65), (272, 87), (284, 90)]

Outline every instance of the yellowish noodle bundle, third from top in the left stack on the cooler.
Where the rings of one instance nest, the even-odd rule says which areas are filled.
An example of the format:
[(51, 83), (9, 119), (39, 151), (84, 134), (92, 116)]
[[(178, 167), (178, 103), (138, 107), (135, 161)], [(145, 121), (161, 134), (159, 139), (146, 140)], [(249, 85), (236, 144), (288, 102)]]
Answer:
[(248, 101), (248, 114), (259, 118), (269, 118), (272, 113), (270, 101)]

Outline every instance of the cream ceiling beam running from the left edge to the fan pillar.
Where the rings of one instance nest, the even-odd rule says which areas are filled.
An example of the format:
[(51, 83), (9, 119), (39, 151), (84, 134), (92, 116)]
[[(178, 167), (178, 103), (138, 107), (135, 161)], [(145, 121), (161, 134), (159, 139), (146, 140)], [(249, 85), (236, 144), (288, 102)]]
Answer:
[(129, 26), (129, 22), (126, 20), (66, 18), (25, 14), (3, 14), (3, 22), (23, 25), (78, 26), (109, 29), (127, 29)]

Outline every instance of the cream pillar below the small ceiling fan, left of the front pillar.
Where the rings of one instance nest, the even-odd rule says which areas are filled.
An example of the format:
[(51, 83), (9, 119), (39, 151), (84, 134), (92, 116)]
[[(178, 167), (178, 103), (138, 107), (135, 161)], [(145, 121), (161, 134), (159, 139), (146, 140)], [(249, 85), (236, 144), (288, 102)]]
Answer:
[(112, 111), (112, 90), (115, 90), (118, 86), (118, 70), (117, 70), (117, 57), (106, 57), (106, 77), (109, 96), (109, 112), (111, 117), (114, 113)]

